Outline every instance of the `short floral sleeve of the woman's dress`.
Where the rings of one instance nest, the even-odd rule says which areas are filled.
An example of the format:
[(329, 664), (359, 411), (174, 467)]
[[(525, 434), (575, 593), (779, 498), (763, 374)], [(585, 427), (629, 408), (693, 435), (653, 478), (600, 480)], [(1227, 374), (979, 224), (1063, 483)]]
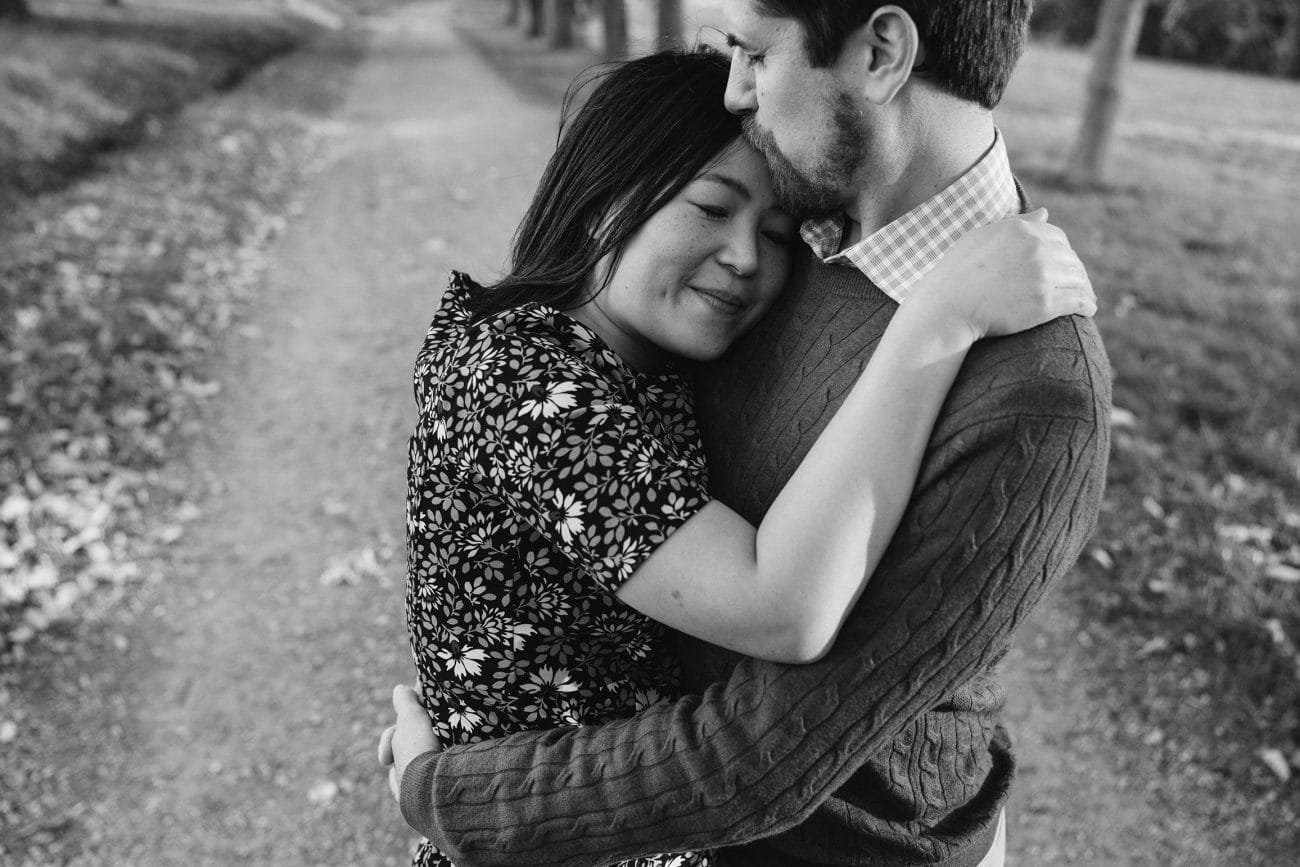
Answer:
[(425, 435), (601, 589), (708, 502), (689, 400), (634, 406), (625, 385), (537, 334), (486, 328), (462, 346), (421, 407), (436, 416)]

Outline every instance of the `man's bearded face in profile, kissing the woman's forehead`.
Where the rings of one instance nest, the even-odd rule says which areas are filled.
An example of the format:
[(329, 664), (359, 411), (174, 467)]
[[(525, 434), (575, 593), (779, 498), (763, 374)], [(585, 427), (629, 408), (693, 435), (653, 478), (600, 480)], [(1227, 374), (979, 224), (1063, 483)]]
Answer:
[(835, 68), (809, 65), (803, 30), (754, 10), (723, 5), (731, 45), (727, 109), (745, 116), (745, 135), (767, 160), (781, 207), (800, 217), (840, 211), (870, 144)]

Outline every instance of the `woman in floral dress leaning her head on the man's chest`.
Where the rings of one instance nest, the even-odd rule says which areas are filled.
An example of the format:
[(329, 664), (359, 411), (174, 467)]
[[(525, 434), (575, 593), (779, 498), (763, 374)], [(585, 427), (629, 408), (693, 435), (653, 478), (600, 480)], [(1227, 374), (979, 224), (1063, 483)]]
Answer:
[[(708, 497), (675, 367), (718, 357), (762, 316), (796, 243), (725, 82), (708, 55), (608, 73), (547, 166), (510, 273), (490, 289), (454, 276), (429, 330), (407, 620), (445, 741), (602, 721), (675, 693), (660, 624), (818, 658), (900, 520), (970, 344), (1092, 311), (1060, 233), (1018, 220), (959, 242), (749, 525)], [(417, 863), (450, 862), (425, 846)]]

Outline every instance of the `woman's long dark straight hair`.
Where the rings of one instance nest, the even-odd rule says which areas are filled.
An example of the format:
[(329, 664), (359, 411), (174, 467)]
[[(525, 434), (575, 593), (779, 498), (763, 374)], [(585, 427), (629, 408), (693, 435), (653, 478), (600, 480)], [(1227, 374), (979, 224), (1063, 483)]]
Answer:
[[(511, 266), (472, 291), (476, 316), (541, 302), (577, 307), (597, 264), (690, 183), (741, 135), (723, 107), (727, 58), (715, 51), (664, 51), (602, 68), (569, 88), (555, 153), (515, 231)], [(594, 82), (576, 112), (578, 91)]]

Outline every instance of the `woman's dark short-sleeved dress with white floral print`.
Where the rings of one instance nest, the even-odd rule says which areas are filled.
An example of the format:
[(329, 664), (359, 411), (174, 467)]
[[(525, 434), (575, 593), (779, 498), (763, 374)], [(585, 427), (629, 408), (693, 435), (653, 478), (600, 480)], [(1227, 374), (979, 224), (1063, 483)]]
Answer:
[[(614, 593), (708, 502), (690, 393), (550, 307), (472, 322), (471, 286), (452, 273), (415, 372), (407, 625), (424, 706), (446, 744), (630, 716), (679, 692), (664, 628)], [(451, 867), (428, 842), (415, 863)]]

